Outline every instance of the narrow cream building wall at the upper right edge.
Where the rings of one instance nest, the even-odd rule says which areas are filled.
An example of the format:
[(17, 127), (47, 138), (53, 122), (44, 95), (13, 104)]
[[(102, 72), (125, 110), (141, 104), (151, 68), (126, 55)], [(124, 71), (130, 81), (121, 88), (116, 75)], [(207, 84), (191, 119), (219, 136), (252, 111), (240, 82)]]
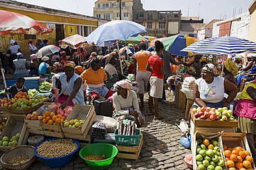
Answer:
[(249, 32), (248, 32), (248, 39), (250, 41), (256, 42), (256, 0), (253, 1), (253, 3), (249, 7), (250, 12), (250, 26), (249, 26)]

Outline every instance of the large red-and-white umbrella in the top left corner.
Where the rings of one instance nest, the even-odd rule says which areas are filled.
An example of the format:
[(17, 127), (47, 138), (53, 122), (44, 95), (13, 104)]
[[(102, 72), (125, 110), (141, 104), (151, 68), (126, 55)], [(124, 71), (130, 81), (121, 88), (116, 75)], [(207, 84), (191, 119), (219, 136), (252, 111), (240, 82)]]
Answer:
[(38, 35), (53, 32), (42, 23), (16, 12), (0, 10), (0, 35)]

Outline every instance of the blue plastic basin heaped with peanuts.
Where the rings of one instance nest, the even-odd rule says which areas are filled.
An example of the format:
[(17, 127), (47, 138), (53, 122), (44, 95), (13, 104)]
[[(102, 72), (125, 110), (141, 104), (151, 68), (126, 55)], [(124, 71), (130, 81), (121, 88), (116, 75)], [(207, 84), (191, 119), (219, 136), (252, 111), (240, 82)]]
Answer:
[(37, 144), (34, 153), (47, 167), (57, 168), (69, 164), (79, 147), (77, 140), (51, 138)]

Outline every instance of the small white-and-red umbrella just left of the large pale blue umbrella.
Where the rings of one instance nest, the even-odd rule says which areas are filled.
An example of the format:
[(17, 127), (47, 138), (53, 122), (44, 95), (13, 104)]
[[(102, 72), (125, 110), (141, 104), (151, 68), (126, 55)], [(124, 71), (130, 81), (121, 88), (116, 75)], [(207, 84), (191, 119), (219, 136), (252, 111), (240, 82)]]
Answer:
[(84, 41), (85, 37), (82, 37), (81, 35), (71, 35), (69, 37), (66, 37), (60, 41), (60, 44), (62, 46), (70, 46), (73, 49), (76, 49), (78, 46), (80, 46)]

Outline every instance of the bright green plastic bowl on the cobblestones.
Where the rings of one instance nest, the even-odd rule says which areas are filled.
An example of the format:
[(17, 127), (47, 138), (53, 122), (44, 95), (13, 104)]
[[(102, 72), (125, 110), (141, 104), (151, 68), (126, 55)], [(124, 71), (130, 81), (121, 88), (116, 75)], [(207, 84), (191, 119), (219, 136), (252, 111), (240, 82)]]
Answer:
[[(101, 170), (109, 168), (113, 158), (118, 154), (118, 149), (113, 144), (97, 143), (83, 147), (79, 155), (90, 169)], [(106, 155), (106, 160), (86, 160), (86, 155)]]

